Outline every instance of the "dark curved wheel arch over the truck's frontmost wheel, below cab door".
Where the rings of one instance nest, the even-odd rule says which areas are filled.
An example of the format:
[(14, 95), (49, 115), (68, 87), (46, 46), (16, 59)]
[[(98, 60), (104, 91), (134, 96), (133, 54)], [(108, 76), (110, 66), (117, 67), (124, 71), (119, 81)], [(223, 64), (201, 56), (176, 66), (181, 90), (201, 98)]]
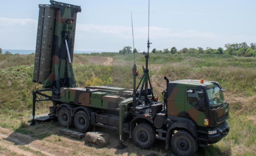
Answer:
[(179, 119), (178, 121), (171, 124), (166, 132), (165, 149), (170, 148), (170, 140), (174, 130), (188, 130), (195, 138), (197, 138), (197, 135), (194, 129), (195, 126), (196, 124), (187, 118)]

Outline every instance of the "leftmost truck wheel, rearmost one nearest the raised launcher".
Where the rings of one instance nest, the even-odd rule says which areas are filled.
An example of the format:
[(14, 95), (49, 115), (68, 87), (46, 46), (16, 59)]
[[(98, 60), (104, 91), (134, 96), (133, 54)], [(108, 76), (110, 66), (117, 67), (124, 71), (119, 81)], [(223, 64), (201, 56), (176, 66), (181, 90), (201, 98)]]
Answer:
[(58, 112), (58, 122), (63, 127), (70, 127), (73, 125), (74, 117), (71, 116), (71, 113), (67, 108), (61, 108)]

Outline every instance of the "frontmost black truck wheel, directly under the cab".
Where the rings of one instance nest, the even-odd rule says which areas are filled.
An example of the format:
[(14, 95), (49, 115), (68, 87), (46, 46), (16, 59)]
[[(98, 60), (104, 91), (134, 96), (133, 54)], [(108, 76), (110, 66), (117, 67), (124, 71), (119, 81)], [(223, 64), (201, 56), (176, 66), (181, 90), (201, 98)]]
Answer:
[(195, 137), (187, 130), (180, 130), (171, 138), (171, 148), (179, 156), (193, 155), (198, 148)]

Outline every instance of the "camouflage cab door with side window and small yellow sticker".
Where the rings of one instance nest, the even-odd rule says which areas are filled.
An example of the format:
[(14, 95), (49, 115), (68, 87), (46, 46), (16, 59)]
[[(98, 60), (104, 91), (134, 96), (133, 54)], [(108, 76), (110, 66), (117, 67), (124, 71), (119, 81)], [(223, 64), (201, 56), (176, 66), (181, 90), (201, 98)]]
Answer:
[[(208, 107), (206, 105), (206, 97), (198, 97), (198, 92), (204, 91), (198, 88), (186, 88), (185, 95), (185, 117), (191, 119), (195, 124), (202, 127), (209, 126)], [(198, 101), (204, 100), (204, 107), (198, 107)]]

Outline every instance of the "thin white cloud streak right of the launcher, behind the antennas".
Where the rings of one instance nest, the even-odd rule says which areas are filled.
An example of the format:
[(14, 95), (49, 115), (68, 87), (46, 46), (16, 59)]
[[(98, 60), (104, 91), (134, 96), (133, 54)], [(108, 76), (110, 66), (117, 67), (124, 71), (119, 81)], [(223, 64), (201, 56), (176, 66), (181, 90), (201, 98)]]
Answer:
[[(132, 28), (129, 26), (115, 25), (94, 25), (77, 24), (76, 30), (81, 32), (97, 32), (111, 34), (120, 38), (131, 38)], [(152, 26), (149, 28), (150, 38), (217, 38), (218, 35), (212, 32), (203, 32), (200, 30), (186, 30), (182, 32), (173, 32), (170, 28)], [(134, 27), (134, 38), (148, 38), (148, 27)]]

